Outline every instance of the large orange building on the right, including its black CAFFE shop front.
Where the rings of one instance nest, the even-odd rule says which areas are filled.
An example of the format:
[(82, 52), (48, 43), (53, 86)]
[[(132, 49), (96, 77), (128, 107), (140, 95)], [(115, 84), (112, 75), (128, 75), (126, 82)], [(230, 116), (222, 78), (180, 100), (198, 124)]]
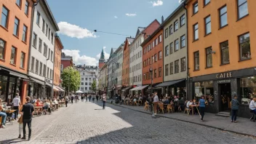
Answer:
[[(239, 96), (239, 116), (249, 116), (256, 95), (254, 0), (191, 0), (188, 10), (189, 98), (206, 95), (207, 111), (230, 111)], [(254, 23), (255, 22), (255, 23)]]

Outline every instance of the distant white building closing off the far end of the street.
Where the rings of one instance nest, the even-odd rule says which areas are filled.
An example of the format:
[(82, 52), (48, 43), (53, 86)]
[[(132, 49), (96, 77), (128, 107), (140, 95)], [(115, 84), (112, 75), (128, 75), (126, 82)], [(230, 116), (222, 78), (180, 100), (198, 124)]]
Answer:
[(96, 89), (97, 89), (97, 66), (91, 66), (91, 65), (77, 65), (77, 70), (80, 73), (81, 77), (81, 84), (80, 89), (84, 93), (92, 92), (92, 82), (96, 81)]

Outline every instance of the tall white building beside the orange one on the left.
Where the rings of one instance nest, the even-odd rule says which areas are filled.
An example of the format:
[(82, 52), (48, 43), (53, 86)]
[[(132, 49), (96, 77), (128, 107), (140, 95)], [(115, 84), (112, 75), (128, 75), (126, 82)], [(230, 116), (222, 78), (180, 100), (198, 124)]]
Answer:
[(55, 33), (59, 28), (46, 0), (39, 1), (33, 14), (28, 95), (52, 97)]

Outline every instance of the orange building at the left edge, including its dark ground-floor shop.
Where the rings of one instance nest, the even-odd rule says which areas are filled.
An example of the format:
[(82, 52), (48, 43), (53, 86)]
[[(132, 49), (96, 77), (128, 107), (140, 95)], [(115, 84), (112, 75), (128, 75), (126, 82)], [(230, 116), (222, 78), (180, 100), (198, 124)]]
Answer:
[(25, 101), (32, 7), (36, 0), (0, 1), (0, 98)]

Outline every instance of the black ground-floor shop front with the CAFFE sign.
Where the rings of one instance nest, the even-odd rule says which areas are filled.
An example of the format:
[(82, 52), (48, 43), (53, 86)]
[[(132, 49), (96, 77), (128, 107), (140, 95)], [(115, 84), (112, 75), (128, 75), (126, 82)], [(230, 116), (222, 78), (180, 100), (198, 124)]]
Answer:
[(256, 96), (256, 68), (196, 76), (189, 80), (189, 87), (188, 98), (198, 101), (205, 95), (209, 102), (206, 111), (210, 113), (230, 112), (230, 102), (237, 95), (241, 103), (238, 116), (249, 118), (249, 102)]

